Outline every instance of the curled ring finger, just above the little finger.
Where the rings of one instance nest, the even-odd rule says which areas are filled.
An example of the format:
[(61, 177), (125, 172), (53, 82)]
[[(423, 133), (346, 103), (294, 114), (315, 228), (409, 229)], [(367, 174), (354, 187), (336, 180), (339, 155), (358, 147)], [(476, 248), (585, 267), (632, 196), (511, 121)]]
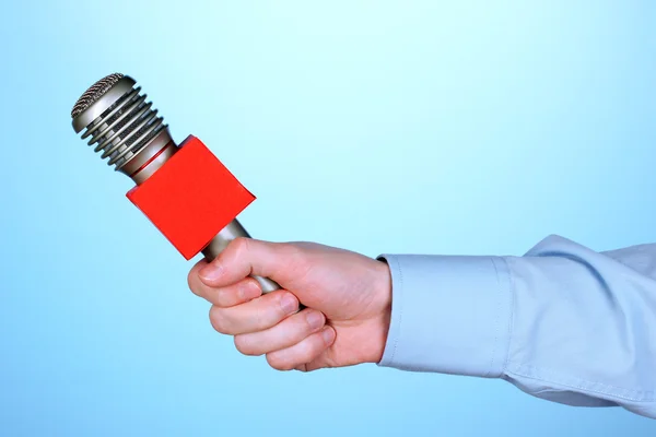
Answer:
[(304, 309), (265, 331), (236, 335), (235, 346), (244, 355), (263, 355), (293, 346), (319, 331), (325, 323), (323, 312)]

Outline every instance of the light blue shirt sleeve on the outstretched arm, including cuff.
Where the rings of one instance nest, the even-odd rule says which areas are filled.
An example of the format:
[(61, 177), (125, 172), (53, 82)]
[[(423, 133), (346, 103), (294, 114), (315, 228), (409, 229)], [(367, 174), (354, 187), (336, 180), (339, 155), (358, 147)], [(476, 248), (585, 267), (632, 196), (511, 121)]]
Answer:
[(596, 252), (550, 236), (524, 257), (380, 258), (393, 307), (378, 365), (656, 418), (656, 245)]

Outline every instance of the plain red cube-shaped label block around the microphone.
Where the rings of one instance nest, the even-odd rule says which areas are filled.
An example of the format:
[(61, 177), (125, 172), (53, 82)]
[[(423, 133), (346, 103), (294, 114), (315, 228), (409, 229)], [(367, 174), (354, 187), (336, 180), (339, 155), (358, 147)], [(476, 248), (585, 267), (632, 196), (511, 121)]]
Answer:
[(196, 137), (127, 193), (175, 248), (190, 260), (254, 200)]

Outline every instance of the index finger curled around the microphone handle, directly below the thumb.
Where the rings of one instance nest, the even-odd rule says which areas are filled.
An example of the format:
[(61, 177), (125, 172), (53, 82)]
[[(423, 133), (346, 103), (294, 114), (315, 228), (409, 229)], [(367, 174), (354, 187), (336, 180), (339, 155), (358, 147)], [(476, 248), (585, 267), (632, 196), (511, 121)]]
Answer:
[(187, 277), (189, 290), (198, 297), (202, 297), (209, 303), (220, 307), (232, 307), (253, 300), (262, 294), (260, 285), (253, 277), (247, 277), (236, 284), (224, 287), (211, 287), (206, 285), (198, 275), (198, 271), (204, 267), (204, 264), (207, 264), (204, 261), (196, 264)]

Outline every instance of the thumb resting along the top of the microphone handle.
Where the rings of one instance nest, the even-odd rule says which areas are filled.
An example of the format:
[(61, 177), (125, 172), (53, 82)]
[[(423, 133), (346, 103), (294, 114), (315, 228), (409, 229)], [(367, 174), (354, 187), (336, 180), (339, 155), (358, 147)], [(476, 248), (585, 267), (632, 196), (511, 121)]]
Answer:
[(209, 286), (225, 286), (246, 276), (284, 280), (286, 272), (300, 273), (298, 249), (283, 243), (236, 238), (199, 275)]

